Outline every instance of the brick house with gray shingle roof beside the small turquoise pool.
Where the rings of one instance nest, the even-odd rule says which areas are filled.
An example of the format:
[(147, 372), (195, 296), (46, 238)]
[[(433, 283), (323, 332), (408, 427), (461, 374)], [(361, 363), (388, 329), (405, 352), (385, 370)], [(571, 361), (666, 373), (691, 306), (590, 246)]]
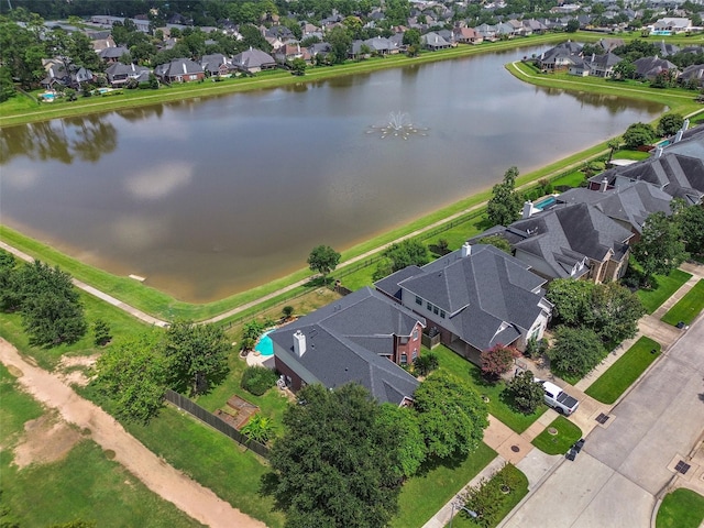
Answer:
[(420, 354), (426, 320), (362, 288), (270, 334), (276, 370), (298, 391), (359, 383), (380, 402), (406, 405), (418, 381), (400, 364)]

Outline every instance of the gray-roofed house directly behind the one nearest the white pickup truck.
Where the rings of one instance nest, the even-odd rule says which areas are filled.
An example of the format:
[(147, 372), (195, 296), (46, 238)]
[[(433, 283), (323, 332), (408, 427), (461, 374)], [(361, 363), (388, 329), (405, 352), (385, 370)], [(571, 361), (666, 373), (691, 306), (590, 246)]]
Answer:
[(502, 234), (514, 255), (534, 273), (553, 278), (620, 278), (628, 266), (634, 233), (588, 204), (557, 206), (538, 212), (526, 202), (524, 218), (483, 235)]

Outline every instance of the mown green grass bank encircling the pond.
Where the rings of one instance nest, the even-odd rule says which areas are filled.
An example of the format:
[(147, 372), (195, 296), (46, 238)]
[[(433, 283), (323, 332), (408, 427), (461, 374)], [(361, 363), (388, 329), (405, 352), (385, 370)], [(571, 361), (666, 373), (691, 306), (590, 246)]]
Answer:
[[(594, 38), (601, 37), (602, 35), (582, 35), (576, 34), (575, 37), (588, 40), (587, 36)], [(342, 65), (340, 67), (331, 67), (331, 68), (321, 68), (315, 69), (314, 73), (320, 72), (319, 76), (314, 76), (314, 73), (307, 75), (305, 78), (305, 82), (317, 81), (323, 78), (331, 78), (342, 75), (354, 75), (359, 73), (373, 72), (376, 69), (385, 69), (388, 67), (400, 67), (409, 64), (422, 64), (428, 62), (435, 62), (439, 59), (451, 59), (463, 56), (469, 56), (479, 53), (491, 53), (501, 50), (515, 50), (522, 46), (535, 46), (540, 44), (548, 44), (553, 42), (564, 41), (568, 36), (565, 34), (550, 34), (550, 35), (541, 35), (537, 37), (524, 38), (520, 41), (508, 41), (508, 42), (498, 42), (494, 43), (495, 45), (482, 45), (482, 46), (462, 46), (458, 48), (452, 48), (447, 52), (432, 52), (421, 55), (417, 58), (408, 58), (405, 56), (395, 56), (387, 57), (383, 59), (363, 62), (363, 63), (353, 63), (349, 65)], [(452, 53), (457, 52), (457, 53)], [(666, 107), (676, 109), (683, 114), (692, 114), (700, 111), (703, 111), (701, 105), (697, 105), (693, 100), (693, 95), (690, 92), (689, 95), (684, 92), (684, 90), (652, 90), (649, 88), (640, 87), (639, 89), (630, 88), (629, 86), (622, 86), (620, 84), (605, 81), (603, 79), (590, 79), (587, 78), (579, 78), (579, 81), (563, 78), (560, 75), (550, 75), (541, 77), (536, 75), (530, 70), (530, 68), (526, 65), (519, 65), (519, 63), (510, 63), (506, 65), (506, 68), (519, 78), (522, 81), (531, 82), (540, 86), (550, 86), (553, 88), (566, 89), (566, 90), (581, 90), (581, 91), (593, 91), (595, 94), (604, 94), (609, 96), (619, 96), (619, 97), (630, 97), (638, 99), (651, 100), (653, 102), (659, 102), (664, 105)], [(327, 75), (329, 74), (329, 75)], [(300, 78), (293, 77), (288, 74), (284, 74), (287, 77), (284, 79), (280, 75), (270, 76), (267, 78), (258, 79), (260, 82), (264, 85), (254, 85), (257, 81), (257, 78), (253, 79), (242, 79), (243, 82), (232, 84), (226, 86), (222, 91), (217, 91), (209, 87), (207, 89), (207, 95), (218, 96), (222, 94), (230, 94), (234, 91), (244, 91), (252, 89), (262, 89), (274, 86), (283, 86), (284, 84), (295, 84), (300, 82)], [(252, 80), (251, 82), (246, 82), (248, 80)], [(285, 82), (279, 82), (285, 80)], [(239, 81), (237, 81), (239, 82)], [(187, 85), (184, 85), (188, 88)], [(198, 86), (191, 87), (188, 90), (179, 91), (178, 99), (191, 98), (191, 97), (200, 97), (197, 94)], [(220, 87), (216, 87), (219, 89)], [(632, 90), (632, 94), (629, 91), (628, 95), (625, 95), (624, 89)], [(206, 91), (204, 88), (201, 91)], [(160, 99), (158, 101), (154, 101), (150, 99), (147, 102), (144, 102), (143, 99), (140, 99), (139, 105), (151, 105), (154, 102), (164, 102), (168, 99)], [(135, 99), (135, 102), (139, 102)], [(125, 108), (124, 99), (120, 99), (119, 101), (108, 101), (108, 103), (117, 105), (117, 108)], [(68, 107), (70, 108), (70, 107)], [(97, 111), (106, 111), (105, 108), (96, 108), (94, 106), (85, 106), (85, 107), (76, 107), (77, 109), (85, 109), (86, 112), (97, 112)], [(0, 110), (2, 107), (0, 107)], [(53, 109), (53, 111), (61, 110), (61, 108)], [(42, 114), (37, 117), (37, 114), (32, 114), (32, 120), (45, 120), (45, 119), (54, 119), (55, 116), (46, 116)], [(25, 116), (26, 118), (26, 116)], [(36, 118), (36, 119), (34, 119)], [(3, 118), (4, 120), (6, 118)], [(9, 118), (8, 118), (9, 119)], [(29, 119), (29, 118), (26, 118)], [(0, 123), (4, 121), (0, 120)], [(606, 142), (594, 145), (584, 151), (572, 154), (562, 160), (556, 161), (542, 168), (522, 175), (518, 178), (517, 185), (519, 188), (525, 188), (537, 183), (540, 179), (550, 179), (551, 177), (557, 177), (570, 169), (574, 169), (585, 162), (598, 157), (607, 152)], [(501, 178), (501, 175), (496, 176), (496, 179)], [(403, 238), (411, 238), (421, 235), (424, 232), (428, 232), (432, 229), (437, 229), (438, 226), (447, 224), (453, 220), (457, 221), (458, 218), (461, 218), (465, 215), (471, 215), (476, 211), (481, 211), (484, 207), (486, 200), (491, 197), (491, 188), (484, 189), (480, 193), (476, 193), (472, 196), (469, 196), (462, 200), (459, 200), (454, 204), (442, 207), (436, 211), (432, 211), (428, 215), (421, 216), (415, 220), (411, 220), (404, 226), (391, 229), (385, 231), (370, 240), (361, 242), (360, 244), (354, 245), (342, 252), (342, 261), (340, 266), (338, 266), (338, 272), (343, 271), (345, 267), (355, 263), (356, 261), (369, 258), (374, 253), (378, 253), (383, 250), (383, 248), (387, 244), (391, 244), (395, 241), (398, 241)], [(109, 294), (129, 305), (139, 308), (142, 311), (145, 311), (154, 317), (158, 317), (165, 320), (173, 320), (174, 318), (186, 318), (193, 320), (207, 320), (218, 315), (228, 312), (229, 310), (235, 309), (243, 305), (249, 305), (253, 302), (257, 302), (258, 300), (263, 300), (257, 304), (255, 308), (248, 308), (246, 310), (238, 314), (238, 317), (241, 318), (248, 314), (260, 311), (261, 309), (272, 306), (276, 302), (285, 300), (287, 298), (295, 297), (308, 289), (310, 287), (306, 287), (304, 283), (309, 279), (312, 274), (307, 268), (300, 268), (287, 276), (276, 278), (266, 284), (260, 285), (255, 288), (249, 289), (246, 292), (241, 292), (231, 296), (228, 296), (222, 299), (218, 299), (211, 302), (206, 304), (191, 304), (183, 300), (175, 299), (170, 295), (152, 288), (147, 285), (138, 283), (128, 277), (116, 276), (111, 273), (108, 273), (103, 270), (99, 270), (92, 267), (90, 265), (84, 264), (78, 260), (66, 255), (47, 244), (44, 244), (37, 240), (34, 240), (30, 237), (26, 237), (18, 231), (10, 229), (9, 227), (0, 224), (0, 240), (16, 248), (29, 255), (40, 258), (51, 265), (58, 265), (68, 273), (70, 273), (74, 277), (79, 280), (82, 280), (106, 294)], [(304, 263), (301, 263), (302, 265)], [(286, 292), (282, 293), (282, 295), (276, 295), (274, 297), (273, 294), (286, 289)], [(267, 297), (266, 299), (263, 299)]]

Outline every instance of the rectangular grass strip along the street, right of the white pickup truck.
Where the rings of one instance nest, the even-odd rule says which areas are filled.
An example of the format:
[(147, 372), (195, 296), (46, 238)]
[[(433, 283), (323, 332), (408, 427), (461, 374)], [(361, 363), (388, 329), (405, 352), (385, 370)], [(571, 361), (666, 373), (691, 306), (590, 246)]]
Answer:
[[(652, 351), (656, 351), (652, 353)], [(634, 343), (585, 393), (603, 404), (613, 404), (660, 355), (660, 343), (642, 337)]]

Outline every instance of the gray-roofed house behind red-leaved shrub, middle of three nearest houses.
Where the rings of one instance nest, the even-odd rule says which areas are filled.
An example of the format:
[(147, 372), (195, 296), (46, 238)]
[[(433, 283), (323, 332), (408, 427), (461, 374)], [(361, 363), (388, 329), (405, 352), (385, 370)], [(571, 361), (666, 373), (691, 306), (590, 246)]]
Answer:
[(422, 267), (409, 266), (376, 288), (428, 320), (441, 340), (479, 363), (496, 344), (525, 349), (540, 339), (552, 312), (546, 279), (493, 245), (466, 243)]

